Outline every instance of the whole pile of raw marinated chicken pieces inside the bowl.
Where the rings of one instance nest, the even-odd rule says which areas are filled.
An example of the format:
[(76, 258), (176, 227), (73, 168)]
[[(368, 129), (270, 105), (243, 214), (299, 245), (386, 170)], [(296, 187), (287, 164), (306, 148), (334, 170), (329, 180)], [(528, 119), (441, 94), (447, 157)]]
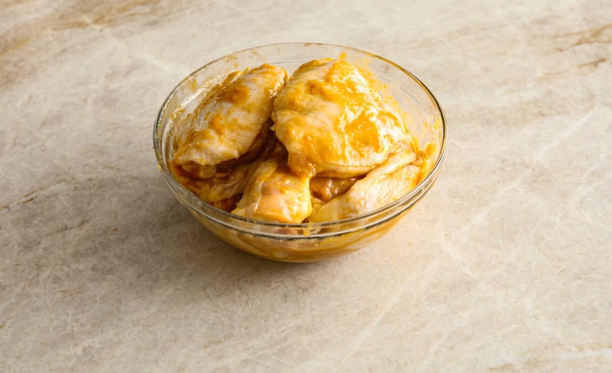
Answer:
[(400, 115), (348, 62), (291, 78), (264, 64), (230, 73), (177, 127), (170, 169), (204, 202), (268, 222), (329, 222), (374, 211), (433, 164)]

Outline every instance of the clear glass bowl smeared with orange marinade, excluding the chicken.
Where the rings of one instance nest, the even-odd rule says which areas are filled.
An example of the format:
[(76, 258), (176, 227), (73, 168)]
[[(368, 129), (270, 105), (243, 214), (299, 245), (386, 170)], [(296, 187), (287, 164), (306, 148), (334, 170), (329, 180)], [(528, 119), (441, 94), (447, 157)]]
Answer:
[[(179, 184), (168, 170), (173, 151), (173, 127), (194, 110), (227, 73), (264, 62), (293, 73), (300, 64), (318, 58), (342, 58), (367, 78), (377, 81), (381, 96), (394, 99), (406, 113), (412, 136), (424, 147), (433, 144), (429, 174), (408, 194), (383, 208), (335, 222), (279, 224), (247, 219), (215, 208)], [(232, 53), (195, 70), (177, 85), (162, 104), (153, 131), (159, 169), (174, 196), (215, 235), (250, 254), (284, 262), (316, 262), (361, 249), (387, 233), (433, 186), (446, 148), (446, 120), (430, 90), (414, 75), (382, 57), (340, 45), (282, 43)]]

